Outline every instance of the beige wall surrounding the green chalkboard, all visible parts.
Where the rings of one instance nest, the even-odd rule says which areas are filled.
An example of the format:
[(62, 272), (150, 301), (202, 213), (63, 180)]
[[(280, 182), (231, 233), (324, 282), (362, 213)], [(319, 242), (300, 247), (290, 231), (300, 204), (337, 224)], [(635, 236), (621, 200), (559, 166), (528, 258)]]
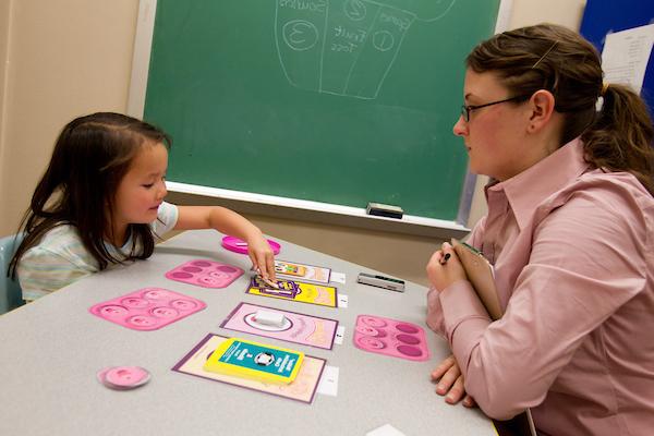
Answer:
[[(518, 27), (548, 21), (578, 28), (584, 4), (513, 0), (509, 23)], [(126, 110), (137, 10), (137, 0), (0, 0), (0, 235), (15, 231), (68, 121), (97, 110)], [(485, 213), (480, 192), (477, 187), (470, 225)], [(420, 283), (426, 283), (424, 264), (440, 243), (249, 217), (274, 237)]]

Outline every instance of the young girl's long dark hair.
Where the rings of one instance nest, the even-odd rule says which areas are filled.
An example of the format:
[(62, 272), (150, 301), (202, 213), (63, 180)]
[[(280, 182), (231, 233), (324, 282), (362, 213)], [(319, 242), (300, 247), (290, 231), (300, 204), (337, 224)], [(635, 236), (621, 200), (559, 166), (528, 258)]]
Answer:
[[(112, 228), (114, 195), (141, 147), (157, 143), (170, 147), (171, 141), (154, 125), (120, 113), (98, 112), (68, 123), (21, 221), (19, 231), (24, 232), (24, 239), (11, 259), (11, 277), (15, 277), (23, 254), (49, 230), (62, 225), (76, 228), (100, 269), (123, 262), (109, 253), (104, 243)], [(132, 223), (128, 234), (132, 235), (128, 259), (153, 254), (155, 241), (148, 225)]]

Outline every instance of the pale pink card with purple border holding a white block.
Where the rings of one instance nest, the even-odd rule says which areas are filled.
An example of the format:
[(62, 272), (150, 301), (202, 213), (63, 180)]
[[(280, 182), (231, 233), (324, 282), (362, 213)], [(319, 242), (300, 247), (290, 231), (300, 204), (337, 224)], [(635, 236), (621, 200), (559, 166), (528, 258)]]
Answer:
[[(256, 319), (258, 311), (280, 314), (282, 315), (282, 323), (270, 325), (269, 323), (259, 322)], [(240, 303), (227, 316), (220, 327), (331, 350), (338, 320), (256, 304)]]

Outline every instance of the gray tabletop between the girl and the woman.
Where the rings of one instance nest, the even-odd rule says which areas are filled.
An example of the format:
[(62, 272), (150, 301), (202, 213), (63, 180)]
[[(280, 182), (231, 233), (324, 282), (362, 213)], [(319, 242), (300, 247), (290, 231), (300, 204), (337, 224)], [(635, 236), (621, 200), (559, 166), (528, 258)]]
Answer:
[[(479, 409), (448, 405), (434, 392), (429, 372), (448, 347), (431, 330), (432, 358), (426, 362), (364, 352), (352, 344), (360, 314), (426, 329), (424, 287), (407, 283), (407, 292), (397, 293), (358, 284), (356, 274), (370, 269), (284, 241), (278, 258), (347, 275), (347, 284), (336, 284), (349, 296), (347, 308), (245, 294), (245, 276), (218, 290), (164, 277), (193, 258), (247, 269), (247, 256), (222, 250), (220, 237), (215, 231), (184, 232), (157, 246), (148, 261), (97, 274), (0, 316), (0, 435), (365, 435), (387, 423), (408, 436), (495, 435)], [(153, 331), (128, 329), (88, 313), (98, 302), (145, 287), (185, 293), (207, 307)], [(221, 329), (220, 323), (243, 301), (336, 318), (346, 326), (343, 344), (323, 350)], [(208, 332), (326, 359), (340, 368), (338, 396), (317, 395), (306, 404), (171, 371)], [(140, 365), (153, 378), (136, 390), (111, 390), (96, 379), (97, 371), (109, 365)]]

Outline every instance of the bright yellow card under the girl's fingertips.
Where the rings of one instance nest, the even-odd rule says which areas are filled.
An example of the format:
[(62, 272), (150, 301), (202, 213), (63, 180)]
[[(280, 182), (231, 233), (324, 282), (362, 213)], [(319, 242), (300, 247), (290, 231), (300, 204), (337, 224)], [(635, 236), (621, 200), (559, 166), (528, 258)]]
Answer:
[(334, 287), (294, 280), (277, 280), (277, 284), (279, 289), (271, 288), (258, 277), (253, 277), (245, 293), (322, 306), (337, 306), (337, 290)]

